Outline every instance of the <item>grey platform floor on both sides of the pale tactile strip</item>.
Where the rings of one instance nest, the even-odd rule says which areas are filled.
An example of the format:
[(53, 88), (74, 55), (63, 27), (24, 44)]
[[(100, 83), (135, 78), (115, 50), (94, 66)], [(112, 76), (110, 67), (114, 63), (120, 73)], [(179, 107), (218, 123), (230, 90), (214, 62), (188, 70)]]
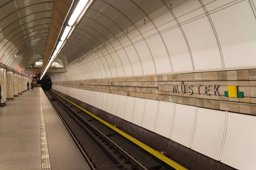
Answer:
[(42, 170), (41, 103), (51, 164), (43, 170), (89, 170), (41, 88), (26, 91), (0, 108), (0, 170)]

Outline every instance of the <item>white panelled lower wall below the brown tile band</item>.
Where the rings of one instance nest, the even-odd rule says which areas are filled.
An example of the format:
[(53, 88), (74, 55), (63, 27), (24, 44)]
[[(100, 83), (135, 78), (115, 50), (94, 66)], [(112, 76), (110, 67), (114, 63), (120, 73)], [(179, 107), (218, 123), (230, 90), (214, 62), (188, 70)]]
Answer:
[(256, 169), (254, 116), (56, 85), (52, 88), (231, 167)]

